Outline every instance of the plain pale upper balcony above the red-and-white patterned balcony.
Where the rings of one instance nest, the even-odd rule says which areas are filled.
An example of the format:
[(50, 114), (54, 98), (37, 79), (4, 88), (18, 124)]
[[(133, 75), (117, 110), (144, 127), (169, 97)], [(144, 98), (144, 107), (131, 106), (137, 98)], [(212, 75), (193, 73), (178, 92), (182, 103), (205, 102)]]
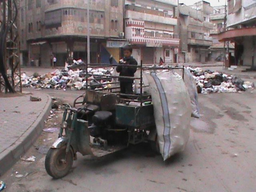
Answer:
[(132, 10), (125, 11), (125, 18), (131, 18), (131, 19), (154, 22), (154, 23), (162, 23), (167, 25), (177, 25), (177, 18), (168, 18), (168, 17), (152, 15), (147, 13), (140, 13)]

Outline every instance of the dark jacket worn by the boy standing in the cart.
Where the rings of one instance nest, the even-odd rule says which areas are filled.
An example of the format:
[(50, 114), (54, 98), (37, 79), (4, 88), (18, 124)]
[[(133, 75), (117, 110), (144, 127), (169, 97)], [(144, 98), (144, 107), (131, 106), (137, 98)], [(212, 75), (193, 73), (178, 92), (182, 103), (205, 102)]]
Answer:
[[(119, 76), (134, 77), (134, 73), (137, 71), (137, 61), (133, 57), (124, 58), (123, 61), (126, 62), (125, 65), (127, 66), (117, 66), (117, 72), (120, 73)], [(119, 81), (133, 82), (133, 79), (119, 78)]]

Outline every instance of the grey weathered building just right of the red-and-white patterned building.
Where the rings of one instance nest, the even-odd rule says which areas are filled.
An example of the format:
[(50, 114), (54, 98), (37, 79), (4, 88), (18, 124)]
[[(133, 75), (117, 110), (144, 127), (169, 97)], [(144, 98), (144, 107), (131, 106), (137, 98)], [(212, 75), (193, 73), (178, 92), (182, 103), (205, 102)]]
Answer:
[(179, 37), (182, 62), (208, 62), (211, 59), (210, 14), (213, 8), (206, 1), (192, 6), (179, 4)]

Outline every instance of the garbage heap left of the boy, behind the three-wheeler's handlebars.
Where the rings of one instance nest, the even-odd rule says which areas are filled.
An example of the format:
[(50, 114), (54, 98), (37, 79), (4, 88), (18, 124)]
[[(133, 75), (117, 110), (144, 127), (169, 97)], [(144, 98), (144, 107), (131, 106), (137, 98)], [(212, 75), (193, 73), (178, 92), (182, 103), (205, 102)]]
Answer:
[[(34, 73), (32, 76), (22, 73), (22, 87), (33, 87), (36, 89), (63, 89), (71, 88), (71, 90), (86, 89), (86, 80), (88, 80), (88, 89), (107, 88), (110, 86), (110, 76), (114, 69), (92, 69), (88, 68), (88, 77), (86, 70), (56, 70), (53, 73), (39, 75)], [(101, 76), (102, 75), (102, 76)]]

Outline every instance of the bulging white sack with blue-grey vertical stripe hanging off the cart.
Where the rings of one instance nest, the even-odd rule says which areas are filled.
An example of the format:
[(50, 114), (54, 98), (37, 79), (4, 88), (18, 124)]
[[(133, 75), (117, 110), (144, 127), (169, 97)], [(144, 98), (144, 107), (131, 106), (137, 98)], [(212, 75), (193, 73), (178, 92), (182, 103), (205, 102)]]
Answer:
[(191, 104), (181, 75), (153, 72), (146, 75), (154, 106), (154, 118), (163, 160), (185, 149), (189, 140)]

